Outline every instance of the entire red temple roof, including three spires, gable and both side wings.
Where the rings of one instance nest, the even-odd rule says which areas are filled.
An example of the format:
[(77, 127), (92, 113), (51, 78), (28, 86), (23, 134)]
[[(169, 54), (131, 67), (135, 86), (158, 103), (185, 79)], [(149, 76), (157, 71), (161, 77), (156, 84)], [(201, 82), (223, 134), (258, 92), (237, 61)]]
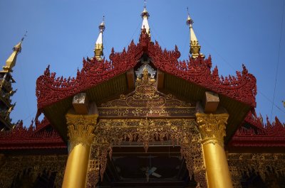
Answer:
[[(144, 56), (150, 58), (157, 70), (165, 73), (165, 90), (197, 101), (202, 99), (206, 91), (219, 94), (220, 104), (230, 114), (226, 138), (229, 146), (285, 147), (280, 142), (285, 140), (284, 124), (276, 118), (275, 123), (267, 121), (264, 125), (256, 114), (251, 113), (256, 106), (257, 81), (244, 65), (236, 75), (223, 77), (219, 75), (217, 67), (212, 67), (210, 55), (204, 58), (201, 53), (193, 54), (193, 51), (188, 60), (180, 60), (177, 46), (173, 50), (162, 50), (157, 41), (153, 43), (150, 40), (147, 22), (149, 14), (146, 9), (141, 16), (139, 42), (135, 44), (132, 40), (122, 52), (112, 49), (109, 60), (100, 58), (103, 55), (103, 22), (99, 26), (100, 33), (95, 43), (95, 50), (100, 51), (98, 57), (95, 52), (95, 58), (83, 58), (83, 68), (77, 71), (76, 77), (57, 77), (48, 66), (36, 81), (37, 116), (43, 113), (46, 118), (41, 122), (36, 120), (35, 128), (33, 123), (29, 128), (24, 128), (20, 122), (13, 130), (0, 132), (0, 149), (66, 148), (63, 142), (67, 135), (64, 115), (71, 108), (72, 97), (86, 92), (91, 101), (100, 101), (128, 92), (127, 73), (134, 70)], [(190, 16), (187, 23), (190, 26), (191, 48), (200, 49)], [(56, 127), (56, 131), (51, 125)]]

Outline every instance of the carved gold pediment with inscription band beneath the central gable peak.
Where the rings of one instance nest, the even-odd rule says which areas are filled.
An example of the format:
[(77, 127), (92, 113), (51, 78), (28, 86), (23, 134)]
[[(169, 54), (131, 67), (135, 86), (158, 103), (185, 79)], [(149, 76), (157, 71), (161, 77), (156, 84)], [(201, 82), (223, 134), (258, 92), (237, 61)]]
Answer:
[(155, 78), (149, 76), (147, 67), (142, 71), (143, 77), (137, 77), (135, 91), (121, 94), (119, 99), (113, 99), (98, 105), (100, 118), (194, 118), (195, 103), (181, 101), (172, 94), (157, 91)]

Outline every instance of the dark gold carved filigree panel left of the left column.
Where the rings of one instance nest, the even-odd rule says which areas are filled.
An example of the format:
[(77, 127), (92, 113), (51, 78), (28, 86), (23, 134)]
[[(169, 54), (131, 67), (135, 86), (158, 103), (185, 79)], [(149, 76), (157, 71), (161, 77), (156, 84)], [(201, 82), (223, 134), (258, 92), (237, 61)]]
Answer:
[(29, 171), (31, 183), (34, 183), (43, 172), (56, 172), (55, 187), (61, 187), (66, 165), (66, 155), (17, 155), (6, 156), (4, 165), (0, 166), (0, 187), (11, 187), (14, 179)]

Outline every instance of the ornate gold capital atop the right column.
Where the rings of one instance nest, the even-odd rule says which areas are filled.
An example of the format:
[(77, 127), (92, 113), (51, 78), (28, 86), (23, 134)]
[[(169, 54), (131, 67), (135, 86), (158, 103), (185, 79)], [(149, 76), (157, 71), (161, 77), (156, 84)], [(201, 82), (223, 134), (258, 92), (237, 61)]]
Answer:
[(226, 124), (229, 114), (202, 114), (196, 113), (202, 143), (218, 143), (224, 147), (224, 136), (226, 136)]

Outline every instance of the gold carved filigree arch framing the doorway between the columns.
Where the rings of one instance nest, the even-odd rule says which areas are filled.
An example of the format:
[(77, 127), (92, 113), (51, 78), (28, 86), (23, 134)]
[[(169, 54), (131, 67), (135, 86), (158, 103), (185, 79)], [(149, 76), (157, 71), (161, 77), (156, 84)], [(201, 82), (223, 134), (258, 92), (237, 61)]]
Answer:
[[(140, 142), (147, 152), (150, 142), (171, 140), (181, 146), (190, 178), (194, 174), (199, 187), (207, 187), (202, 145), (194, 119), (100, 119), (95, 127), (88, 168), (88, 187), (103, 178), (112, 146), (122, 142)], [(204, 177), (203, 177), (204, 176)]]

